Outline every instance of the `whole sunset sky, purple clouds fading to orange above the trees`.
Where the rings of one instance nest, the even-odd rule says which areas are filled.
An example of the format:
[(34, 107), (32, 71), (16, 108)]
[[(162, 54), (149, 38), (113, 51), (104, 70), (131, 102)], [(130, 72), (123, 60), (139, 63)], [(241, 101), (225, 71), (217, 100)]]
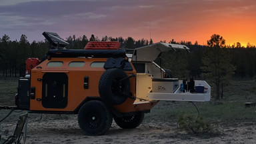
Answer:
[(216, 33), (226, 44), (256, 45), (255, 0), (0, 0), (0, 19), (0, 37), (17, 41), (51, 31), (206, 45)]

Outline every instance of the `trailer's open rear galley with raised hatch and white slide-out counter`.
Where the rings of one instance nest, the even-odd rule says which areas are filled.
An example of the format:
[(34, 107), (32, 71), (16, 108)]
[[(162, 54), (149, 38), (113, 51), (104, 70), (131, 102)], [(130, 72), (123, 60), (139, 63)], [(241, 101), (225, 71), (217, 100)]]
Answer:
[(189, 51), (189, 47), (173, 43), (155, 43), (135, 49), (131, 61), (137, 70), (139, 101), (210, 101), (211, 87), (206, 81), (193, 81), (193, 87), (189, 85), (188, 90), (182, 80), (163, 77), (164, 70), (154, 61), (161, 53), (176, 49)]

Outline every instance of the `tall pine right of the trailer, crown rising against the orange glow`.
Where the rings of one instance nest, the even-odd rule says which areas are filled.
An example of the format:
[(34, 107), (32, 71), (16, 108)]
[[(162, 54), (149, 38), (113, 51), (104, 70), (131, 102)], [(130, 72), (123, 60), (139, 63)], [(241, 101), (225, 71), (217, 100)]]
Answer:
[(207, 45), (209, 47), (203, 51), (202, 76), (209, 79), (213, 86), (215, 100), (222, 99), (235, 67), (230, 63), (231, 55), (228, 49), (225, 49), (225, 39), (223, 37), (214, 34), (207, 41)]

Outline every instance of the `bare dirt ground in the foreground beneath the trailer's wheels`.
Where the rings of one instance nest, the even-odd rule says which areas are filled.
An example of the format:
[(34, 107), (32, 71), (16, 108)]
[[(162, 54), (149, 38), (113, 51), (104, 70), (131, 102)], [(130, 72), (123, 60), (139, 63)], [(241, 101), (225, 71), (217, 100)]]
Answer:
[[(217, 133), (192, 135), (177, 129), (176, 123), (143, 121), (135, 129), (121, 129), (115, 122), (101, 136), (83, 135), (76, 119), (29, 120), (26, 143), (256, 143), (256, 123), (213, 125)], [(14, 129), (15, 123), (1, 123), (3, 129)]]

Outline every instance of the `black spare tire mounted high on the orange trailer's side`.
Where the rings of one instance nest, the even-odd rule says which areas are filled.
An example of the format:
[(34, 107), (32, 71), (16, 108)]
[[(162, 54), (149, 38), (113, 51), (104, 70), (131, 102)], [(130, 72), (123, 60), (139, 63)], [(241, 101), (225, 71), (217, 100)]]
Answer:
[[(130, 93), (130, 81), (125, 71), (107, 69), (99, 80), (99, 95), (109, 105), (121, 105)], [(123, 79), (122, 81), (120, 81)]]

